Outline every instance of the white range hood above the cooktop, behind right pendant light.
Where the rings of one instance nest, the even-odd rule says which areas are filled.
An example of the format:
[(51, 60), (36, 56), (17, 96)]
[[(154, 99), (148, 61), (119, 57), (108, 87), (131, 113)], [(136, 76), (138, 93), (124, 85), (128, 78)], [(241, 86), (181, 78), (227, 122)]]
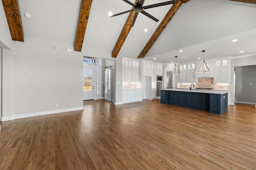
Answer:
[(205, 60), (205, 63), (207, 64), (208, 68), (210, 71), (202, 73), (202, 72), (198, 72), (198, 69), (200, 67), (200, 64), (202, 63), (202, 60), (200, 61), (196, 61), (196, 72), (195, 72), (195, 78), (212, 78), (213, 77), (213, 64), (214, 61), (213, 59), (208, 59)]

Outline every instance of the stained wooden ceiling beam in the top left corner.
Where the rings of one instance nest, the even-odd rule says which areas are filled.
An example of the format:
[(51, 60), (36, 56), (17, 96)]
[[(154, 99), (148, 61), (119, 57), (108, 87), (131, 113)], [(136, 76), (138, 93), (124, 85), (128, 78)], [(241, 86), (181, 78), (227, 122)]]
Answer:
[(2, 3), (4, 6), (4, 12), (9, 25), (12, 40), (24, 42), (24, 32), (18, 0), (2, 0)]

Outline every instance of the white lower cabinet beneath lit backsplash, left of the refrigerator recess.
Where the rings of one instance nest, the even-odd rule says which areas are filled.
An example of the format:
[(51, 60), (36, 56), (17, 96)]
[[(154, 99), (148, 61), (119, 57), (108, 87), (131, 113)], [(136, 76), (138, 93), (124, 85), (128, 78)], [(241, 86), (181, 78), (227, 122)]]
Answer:
[(123, 89), (123, 103), (142, 102), (142, 89)]

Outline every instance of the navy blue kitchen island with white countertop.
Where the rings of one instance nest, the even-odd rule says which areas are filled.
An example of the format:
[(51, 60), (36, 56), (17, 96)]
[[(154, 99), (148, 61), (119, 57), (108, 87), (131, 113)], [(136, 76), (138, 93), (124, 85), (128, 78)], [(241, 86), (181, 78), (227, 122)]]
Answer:
[(228, 92), (196, 89), (161, 89), (161, 103), (201, 109), (221, 115), (228, 110)]

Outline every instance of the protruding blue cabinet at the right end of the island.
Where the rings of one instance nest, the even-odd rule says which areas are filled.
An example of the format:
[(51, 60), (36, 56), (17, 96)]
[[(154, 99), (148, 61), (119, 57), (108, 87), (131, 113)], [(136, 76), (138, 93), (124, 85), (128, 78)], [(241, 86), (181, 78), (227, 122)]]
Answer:
[(228, 94), (210, 94), (210, 113), (221, 115), (228, 110)]

